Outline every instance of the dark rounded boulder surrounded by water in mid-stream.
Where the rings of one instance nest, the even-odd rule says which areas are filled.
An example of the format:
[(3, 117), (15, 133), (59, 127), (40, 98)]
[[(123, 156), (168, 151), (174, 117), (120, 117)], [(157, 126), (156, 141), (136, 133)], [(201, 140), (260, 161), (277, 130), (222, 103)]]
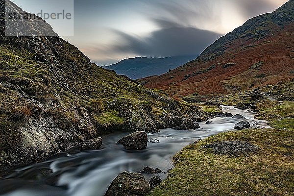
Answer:
[(147, 133), (144, 131), (137, 131), (129, 134), (118, 141), (126, 149), (137, 149), (142, 150), (147, 147), (148, 137)]

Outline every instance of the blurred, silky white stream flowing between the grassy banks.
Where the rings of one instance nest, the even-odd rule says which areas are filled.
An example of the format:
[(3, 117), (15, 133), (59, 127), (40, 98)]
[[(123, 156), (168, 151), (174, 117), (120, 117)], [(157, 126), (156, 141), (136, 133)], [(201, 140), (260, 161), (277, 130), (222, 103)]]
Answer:
[[(254, 113), (222, 106), (224, 112), (241, 114), (253, 124)], [(99, 150), (60, 153), (49, 160), (19, 168), (0, 179), (0, 196), (103, 196), (112, 180), (123, 171), (138, 172), (144, 167), (167, 172), (172, 168), (172, 156), (183, 147), (211, 135), (233, 129), (242, 120), (226, 117), (210, 119), (212, 124), (200, 123), (201, 129), (181, 131), (163, 129), (148, 134), (145, 150), (126, 150), (116, 142), (129, 132), (113, 132), (102, 136)], [(162, 178), (166, 174), (160, 174)], [(147, 180), (152, 175), (145, 175)]]

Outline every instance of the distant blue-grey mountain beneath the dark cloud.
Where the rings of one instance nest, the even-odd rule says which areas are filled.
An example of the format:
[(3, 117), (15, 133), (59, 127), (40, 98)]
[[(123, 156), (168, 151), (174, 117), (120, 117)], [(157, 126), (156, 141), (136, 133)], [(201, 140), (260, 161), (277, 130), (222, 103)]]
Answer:
[(114, 70), (117, 74), (127, 75), (131, 79), (138, 79), (150, 75), (160, 75), (169, 70), (184, 65), (196, 59), (196, 55), (174, 56), (166, 58), (136, 57), (128, 58), (110, 66), (101, 66), (104, 69)]

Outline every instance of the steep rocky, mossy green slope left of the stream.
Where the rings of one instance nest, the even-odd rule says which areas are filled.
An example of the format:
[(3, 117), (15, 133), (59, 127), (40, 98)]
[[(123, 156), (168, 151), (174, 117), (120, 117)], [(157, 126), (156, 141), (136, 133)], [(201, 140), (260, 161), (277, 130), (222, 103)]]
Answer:
[[(1, 169), (40, 162), (109, 130), (154, 132), (202, 115), (98, 67), (57, 35), (5, 37), (4, 0), (0, 5)], [(52, 31), (34, 23), (31, 32)]]

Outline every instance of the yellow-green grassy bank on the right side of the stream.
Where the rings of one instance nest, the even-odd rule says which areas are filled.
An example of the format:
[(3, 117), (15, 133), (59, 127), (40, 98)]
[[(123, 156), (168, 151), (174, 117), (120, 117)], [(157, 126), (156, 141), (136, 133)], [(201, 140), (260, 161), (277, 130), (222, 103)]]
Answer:
[[(273, 99), (260, 98), (254, 106), (256, 117), (269, 121), (273, 129), (221, 133), (185, 147), (173, 157), (175, 167), (168, 178), (150, 196), (293, 196), (294, 101), (281, 93), (293, 91), (293, 86), (270, 88)], [(237, 104), (243, 100), (252, 105), (251, 95), (231, 94), (221, 102)], [(223, 141), (247, 142), (258, 150), (232, 156), (202, 148)]]

